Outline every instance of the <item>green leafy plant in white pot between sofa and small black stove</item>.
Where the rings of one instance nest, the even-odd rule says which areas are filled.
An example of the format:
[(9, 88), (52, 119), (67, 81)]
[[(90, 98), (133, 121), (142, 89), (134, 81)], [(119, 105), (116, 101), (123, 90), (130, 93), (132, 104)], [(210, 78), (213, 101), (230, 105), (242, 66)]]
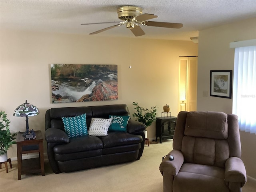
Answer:
[[(136, 121), (145, 124), (146, 127), (150, 126), (156, 119), (156, 106), (153, 106), (150, 109), (145, 109), (140, 107), (136, 102), (133, 102), (132, 104), (135, 106), (134, 109), (136, 110), (132, 116), (136, 117)], [(147, 132), (145, 132), (145, 138), (147, 138)]]

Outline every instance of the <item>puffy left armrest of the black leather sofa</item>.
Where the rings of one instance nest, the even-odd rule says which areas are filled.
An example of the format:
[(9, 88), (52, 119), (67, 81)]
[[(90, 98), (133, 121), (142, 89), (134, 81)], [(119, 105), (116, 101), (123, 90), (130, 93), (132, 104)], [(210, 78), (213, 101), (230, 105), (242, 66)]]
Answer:
[(56, 128), (48, 128), (45, 130), (45, 140), (50, 143), (69, 143), (68, 135), (64, 131)]

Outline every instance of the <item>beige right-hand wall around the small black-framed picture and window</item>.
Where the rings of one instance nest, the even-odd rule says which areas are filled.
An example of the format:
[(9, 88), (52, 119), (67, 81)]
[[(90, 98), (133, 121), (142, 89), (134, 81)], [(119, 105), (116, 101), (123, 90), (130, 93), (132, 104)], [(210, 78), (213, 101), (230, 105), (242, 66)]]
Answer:
[[(232, 113), (232, 99), (211, 97), (210, 70), (234, 70), (234, 49), (229, 43), (256, 38), (256, 18), (199, 32), (197, 110)], [(203, 91), (208, 97), (203, 97)], [(256, 178), (256, 135), (240, 132), (242, 160), (249, 176)]]

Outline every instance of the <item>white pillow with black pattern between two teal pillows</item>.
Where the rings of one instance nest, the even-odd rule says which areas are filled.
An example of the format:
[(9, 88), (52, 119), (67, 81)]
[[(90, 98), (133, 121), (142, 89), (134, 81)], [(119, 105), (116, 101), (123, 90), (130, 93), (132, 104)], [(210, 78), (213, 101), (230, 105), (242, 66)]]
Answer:
[(92, 136), (107, 136), (108, 128), (111, 124), (110, 119), (92, 118), (88, 134)]

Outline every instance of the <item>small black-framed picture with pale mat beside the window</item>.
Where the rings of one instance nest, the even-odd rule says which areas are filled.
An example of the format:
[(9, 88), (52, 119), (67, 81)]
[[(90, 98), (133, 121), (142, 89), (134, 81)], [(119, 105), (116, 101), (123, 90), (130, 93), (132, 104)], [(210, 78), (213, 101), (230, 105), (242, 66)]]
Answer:
[(210, 71), (210, 96), (231, 99), (232, 70)]

